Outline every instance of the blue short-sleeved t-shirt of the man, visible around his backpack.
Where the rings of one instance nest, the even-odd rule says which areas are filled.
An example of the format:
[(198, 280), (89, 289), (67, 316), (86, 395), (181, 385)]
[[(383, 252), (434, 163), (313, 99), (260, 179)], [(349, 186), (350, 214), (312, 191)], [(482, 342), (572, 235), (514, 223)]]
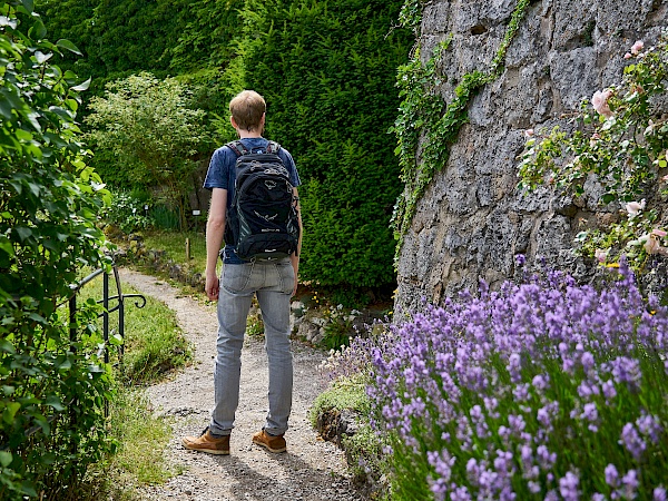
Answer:
[[(253, 153), (264, 153), (264, 148), (267, 147), (268, 140), (263, 137), (253, 137), (242, 139), (242, 144)], [(285, 148), (278, 150), (278, 156), (285, 164), (285, 168), (289, 173), (289, 180), (294, 187), (301, 185), (299, 175), (295, 160), (292, 155)], [(236, 179), (236, 154), (228, 148), (223, 146), (214, 151), (212, 161), (209, 163), (208, 171), (206, 173), (206, 179), (204, 179), (204, 187), (213, 190), (214, 188), (227, 189), (227, 212), (232, 207), (232, 200), (234, 199), (234, 181)], [(223, 262), (226, 264), (243, 264), (245, 261), (240, 259), (236, 255), (236, 248), (233, 245), (225, 245)]]

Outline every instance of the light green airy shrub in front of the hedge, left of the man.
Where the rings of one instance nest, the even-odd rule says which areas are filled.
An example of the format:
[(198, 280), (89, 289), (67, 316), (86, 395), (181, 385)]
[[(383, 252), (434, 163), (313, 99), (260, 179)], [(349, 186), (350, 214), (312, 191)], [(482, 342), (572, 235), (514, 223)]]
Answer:
[(157, 200), (178, 209), (195, 187), (193, 171), (199, 148), (208, 145), (204, 111), (190, 109), (188, 90), (176, 79), (158, 80), (141, 72), (107, 85), (104, 98), (92, 98), (86, 118), (90, 138), (110, 151), (107, 171), (126, 171), (132, 186), (150, 190)]

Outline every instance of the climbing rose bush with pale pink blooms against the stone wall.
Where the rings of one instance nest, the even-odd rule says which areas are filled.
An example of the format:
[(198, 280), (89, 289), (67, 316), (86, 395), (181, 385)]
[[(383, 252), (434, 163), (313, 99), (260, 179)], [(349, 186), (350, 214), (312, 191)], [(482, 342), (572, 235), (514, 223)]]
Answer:
[[(658, 226), (651, 204), (668, 198), (668, 121), (665, 118), (668, 82), (668, 32), (656, 48), (633, 50), (636, 60), (625, 68), (622, 84), (597, 92), (595, 109), (584, 99), (566, 132), (531, 130), (519, 165), (520, 188), (547, 183), (574, 196), (586, 193), (584, 181), (596, 179), (599, 204), (621, 205), (626, 217), (608, 228), (582, 232), (579, 252), (615, 263), (621, 254), (638, 269), (649, 255), (668, 255), (666, 228)], [(632, 55), (629, 53), (629, 59)], [(646, 202), (647, 198), (647, 202)]]

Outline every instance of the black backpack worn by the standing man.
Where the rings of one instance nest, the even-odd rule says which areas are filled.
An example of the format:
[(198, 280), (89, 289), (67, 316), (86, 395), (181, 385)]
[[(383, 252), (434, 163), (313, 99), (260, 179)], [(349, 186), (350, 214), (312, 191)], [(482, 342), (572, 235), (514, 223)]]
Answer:
[(225, 243), (242, 259), (277, 259), (297, 252), (299, 224), (289, 173), (269, 141), (265, 153), (253, 153), (242, 141), (225, 145), (237, 156), (232, 208)]

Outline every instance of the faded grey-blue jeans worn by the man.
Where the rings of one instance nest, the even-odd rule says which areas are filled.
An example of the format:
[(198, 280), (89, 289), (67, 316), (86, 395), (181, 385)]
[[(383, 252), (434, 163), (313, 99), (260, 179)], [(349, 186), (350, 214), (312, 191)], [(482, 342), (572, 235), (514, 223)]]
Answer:
[(214, 369), (215, 406), (209, 430), (227, 435), (239, 403), (242, 346), (253, 296), (257, 296), (269, 364), (269, 412), (264, 429), (281, 435), (292, 409), (293, 358), (289, 346), (289, 303), (295, 273), (289, 258), (224, 264), (218, 294), (218, 341)]

